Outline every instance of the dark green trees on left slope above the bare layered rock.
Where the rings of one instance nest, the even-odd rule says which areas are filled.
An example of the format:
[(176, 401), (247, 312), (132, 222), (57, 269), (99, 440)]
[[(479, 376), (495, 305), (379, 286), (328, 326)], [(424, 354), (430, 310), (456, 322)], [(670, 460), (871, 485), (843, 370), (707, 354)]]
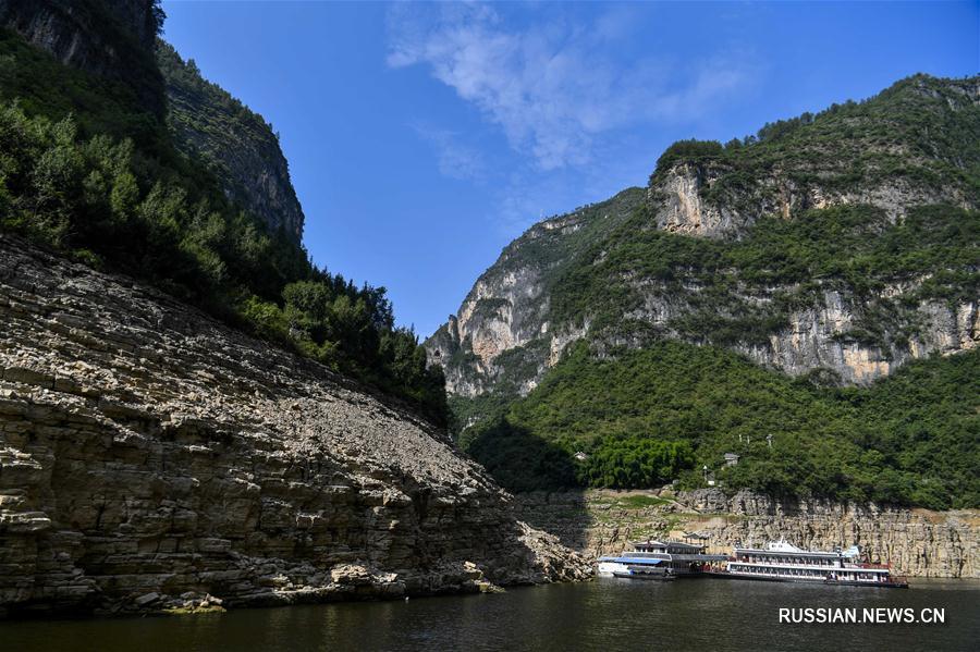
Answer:
[(394, 325), (384, 290), (318, 269), (222, 190), (124, 84), (0, 33), (0, 227), (149, 281), (443, 420), (441, 371)]

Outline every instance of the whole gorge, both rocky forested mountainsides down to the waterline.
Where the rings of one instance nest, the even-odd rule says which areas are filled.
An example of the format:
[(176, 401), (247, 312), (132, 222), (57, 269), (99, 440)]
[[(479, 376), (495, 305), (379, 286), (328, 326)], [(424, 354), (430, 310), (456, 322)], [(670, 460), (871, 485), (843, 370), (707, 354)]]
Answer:
[(494, 592), (688, 532), (980, 578), (980, 77), (678, 142), (420, 344), (162, 20), (0, 0), (0, 618)]

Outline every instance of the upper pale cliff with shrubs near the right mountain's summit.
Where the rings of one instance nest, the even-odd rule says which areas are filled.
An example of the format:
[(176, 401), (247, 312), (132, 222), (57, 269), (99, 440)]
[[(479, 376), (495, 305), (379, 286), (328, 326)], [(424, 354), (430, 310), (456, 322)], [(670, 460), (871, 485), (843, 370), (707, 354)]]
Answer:
[[(881, 110), (885, 102), (899, 107), (899, 112)], [(912, 206), (968, 208), (976, 200), (969, 184), (955, 177), (936, 183), (936, 175), (929, 173), (945, 165), (966, 167), (963, 152), (944, 144), (945, 136), (931, 142), (924, 134), (923, 139), (909, 137), (910, 125), (901, 111), (932, 113), (933, 130), (942, 132), (953, 124), (961, 127), (957, 118), (978, 106), (976, 77), (944, 79), (936, 86), (919, 76), (873, 98), (867, 110), (852, 111), (843, 124), (833, 125), (833, 132), (826, 121), (821, 125), (812, 116), (787, 126), (780, 138), (772, 139), (792, 144), (788, 156), (746, 156), (743, 148), (728, 156), (667, 163), (652, 175), (648, 201), (658, 227), (708, 237), (738, 236), (760, 216), (789, 219), (830, 206), (877, 206), (893, 221), (904, 218)], [(896, 132), (898, 138), (880, 137), (879, 127)], [(806, 128), (821, 137), (797, 137)], [(853, 181), (856, 172), (862, 176), (860, 183)]]

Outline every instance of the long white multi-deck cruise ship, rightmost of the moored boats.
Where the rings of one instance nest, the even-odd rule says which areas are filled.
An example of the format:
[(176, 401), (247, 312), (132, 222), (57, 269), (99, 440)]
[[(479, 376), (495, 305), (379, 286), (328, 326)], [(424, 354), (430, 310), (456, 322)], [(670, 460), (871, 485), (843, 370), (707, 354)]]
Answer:
[(860, 549), (832, 552), (808, 551), (786, 541), (771, 541), (765, 548), (735, 546), (726, 571), (731, 579), (781, 582), (823, 582), (825, 585), (907, 588), (903, 577), (892, 576), (890, 566), (863, 564)]

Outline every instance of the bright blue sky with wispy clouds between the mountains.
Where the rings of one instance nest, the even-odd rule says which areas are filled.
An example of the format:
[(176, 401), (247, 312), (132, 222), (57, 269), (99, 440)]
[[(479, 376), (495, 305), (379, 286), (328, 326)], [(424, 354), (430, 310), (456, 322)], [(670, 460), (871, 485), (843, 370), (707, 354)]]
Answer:
[(980, 3), (167, 1), (167, 38), (281, 134), (314, 260), (430, 334), (539, 219), (681, 138), (980, 71)]

